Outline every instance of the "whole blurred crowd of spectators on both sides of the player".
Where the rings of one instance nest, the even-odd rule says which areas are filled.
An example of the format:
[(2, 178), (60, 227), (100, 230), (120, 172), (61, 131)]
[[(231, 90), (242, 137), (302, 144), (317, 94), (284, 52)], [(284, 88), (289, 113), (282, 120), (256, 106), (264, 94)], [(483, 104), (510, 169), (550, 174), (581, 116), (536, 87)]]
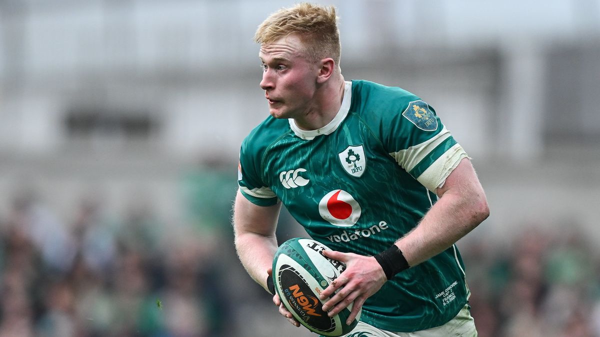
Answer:
[[(119, 214), (82, 197), (57, 214), (35, 194), (15, 195), (0, 214), (0, 337), (288, 336), (236, 259), (235, 180), (191, 179), (197, 221), (187, 225), (151, 205)], [(225, 186), (221, 197), (202, 193), (210, 184)], [(281, 240), (301, 233), (281, 226)], [(600, 336), (600, 255), (581, 231), (562, 233), (526, 227), (509, 244), (460, 245), (480, 336)]]

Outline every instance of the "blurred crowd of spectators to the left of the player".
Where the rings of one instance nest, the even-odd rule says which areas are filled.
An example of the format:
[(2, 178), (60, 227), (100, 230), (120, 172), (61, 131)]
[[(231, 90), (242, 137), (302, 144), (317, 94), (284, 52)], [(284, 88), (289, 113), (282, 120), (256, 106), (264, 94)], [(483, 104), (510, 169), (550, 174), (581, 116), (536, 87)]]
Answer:
[(94, 197), (70, 217), (25, 193), (0, 216), (1, 337), (230, 335), (215, 234)]

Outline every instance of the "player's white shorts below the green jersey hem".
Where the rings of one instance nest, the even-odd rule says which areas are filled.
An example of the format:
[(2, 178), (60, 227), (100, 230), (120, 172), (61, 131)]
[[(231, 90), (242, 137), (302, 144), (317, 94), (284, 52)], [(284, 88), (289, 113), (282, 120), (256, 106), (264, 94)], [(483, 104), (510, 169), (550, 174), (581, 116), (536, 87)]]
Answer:
[(475, 329), (475, 321), (469, 311), (469, 305), (464, 305), (463, 309), (458, 312), (452, 320), (443, 326), (433, 327), (427, 330), (415, 332), (389, 332), (382, 329), (377, 329), (370, 324), (358, 322), (356, 327), (349, 332), (345, 337), (476, 337), (477, 330)]

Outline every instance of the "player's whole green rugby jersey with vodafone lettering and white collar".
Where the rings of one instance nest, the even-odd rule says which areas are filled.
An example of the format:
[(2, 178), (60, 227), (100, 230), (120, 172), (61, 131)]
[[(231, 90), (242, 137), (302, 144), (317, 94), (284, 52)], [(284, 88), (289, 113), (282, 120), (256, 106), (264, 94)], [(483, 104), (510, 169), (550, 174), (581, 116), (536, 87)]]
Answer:
[[(319, 130), (271, 116), (254, 128), (241, 146), (238, 183), (259, 206), (281, 200), (329, 248), (374, 255), (418, 224), (465, 157), (420, 98), (353, 80)], [(386, 282), (365, 302), (361, 321), (393, 332), (445, 324), (467, 302), (463, 270), (453, 245)]]

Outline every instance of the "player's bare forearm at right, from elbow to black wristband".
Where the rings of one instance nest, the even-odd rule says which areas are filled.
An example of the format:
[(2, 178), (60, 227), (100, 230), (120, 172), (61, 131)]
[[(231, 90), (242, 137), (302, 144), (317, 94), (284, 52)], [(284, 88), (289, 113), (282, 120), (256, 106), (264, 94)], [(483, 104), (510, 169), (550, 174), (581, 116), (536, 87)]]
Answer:
[(489, 213), (482, 189), (448, 191), (396, 245), (409, 265), (415, 266), (452, 246)]

